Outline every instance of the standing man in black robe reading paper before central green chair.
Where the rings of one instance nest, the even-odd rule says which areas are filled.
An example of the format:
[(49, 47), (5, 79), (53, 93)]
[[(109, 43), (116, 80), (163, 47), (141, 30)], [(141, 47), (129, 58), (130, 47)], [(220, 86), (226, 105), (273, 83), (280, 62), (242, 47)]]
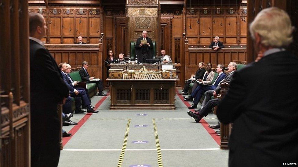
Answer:
[[(139, 57), (138, 61), (143, 63), (144, 59), (152, 59), (153, 57), (153, 43), (152, 40), (147, 37), (147, 31), (143, 31), (142, 37), (136, 40), (136, 55)], [(147, 43), (143, 45), (141, 40), (147, 40)]]

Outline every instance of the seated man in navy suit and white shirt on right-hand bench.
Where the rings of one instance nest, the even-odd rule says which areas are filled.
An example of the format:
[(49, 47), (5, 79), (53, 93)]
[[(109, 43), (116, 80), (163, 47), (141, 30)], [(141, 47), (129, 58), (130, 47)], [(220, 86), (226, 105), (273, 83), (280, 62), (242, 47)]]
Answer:
[[(216, 68), (216, 72), (218, 73), (217, 78), (215, 79), (212, 85), (199, 85), (192, 93), (189, 99), (194, 97), (193, 104), (188, 107), (189, 109), (197, 108), (197, 105), (203, 96), (203, 94), (208, 90), (214, 90), (217, 85), (222, 81), (227, 75), (224, 73), (224, 65), (218, 64)], [(187, 101), (187, 99), (186, 99)]]

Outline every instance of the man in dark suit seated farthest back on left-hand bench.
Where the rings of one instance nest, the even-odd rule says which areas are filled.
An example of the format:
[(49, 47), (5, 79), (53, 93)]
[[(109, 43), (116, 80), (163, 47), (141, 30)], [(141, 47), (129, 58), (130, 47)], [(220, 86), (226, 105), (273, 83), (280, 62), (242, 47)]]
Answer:
[(94, 77), (90, 77), (89, 76), (89, 73), (87, 71), (87, 68), (88, 67), (89, 67), (88, 62), (87, 61), (83, 61), (82, 68), (79, 71), (79, 74), (81, 75), (82, 81), (83, 82), (87, 82), (87, 83), (96, 83), (97, 89), (98, 89), (98, 96), (107, 96), (107, 94), (104, 94), (104, 92), (102, 92), (104, 90), (104, 86), (102, 85), (102, 81), (101, 80), (90, 81), (90, 80), (93, 80)]

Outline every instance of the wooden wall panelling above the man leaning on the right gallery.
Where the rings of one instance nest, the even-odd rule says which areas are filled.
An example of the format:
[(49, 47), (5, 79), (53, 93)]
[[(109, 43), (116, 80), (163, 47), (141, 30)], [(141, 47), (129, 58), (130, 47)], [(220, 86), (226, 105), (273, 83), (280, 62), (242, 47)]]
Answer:
[(186, 37), (188, 43), (189, 45), (209, 46), (213, 38), (218, 36), (225, 45), (245, 45), (245, 20), (246, 10), (237, 9), (237, 7), (187, 9)]

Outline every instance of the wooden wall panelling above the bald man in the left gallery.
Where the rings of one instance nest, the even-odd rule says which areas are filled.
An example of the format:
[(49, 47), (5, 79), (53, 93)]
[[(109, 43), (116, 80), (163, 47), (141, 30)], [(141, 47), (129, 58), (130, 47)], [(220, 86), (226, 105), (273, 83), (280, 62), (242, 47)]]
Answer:
[(102, 33), (102, 13), (99, 7), (36, 7), (30, 6), (28, 12), (42, 14), (47, 23), (46, 43), (77, 43), (78, 36), (85, 43), (99, 43)]

